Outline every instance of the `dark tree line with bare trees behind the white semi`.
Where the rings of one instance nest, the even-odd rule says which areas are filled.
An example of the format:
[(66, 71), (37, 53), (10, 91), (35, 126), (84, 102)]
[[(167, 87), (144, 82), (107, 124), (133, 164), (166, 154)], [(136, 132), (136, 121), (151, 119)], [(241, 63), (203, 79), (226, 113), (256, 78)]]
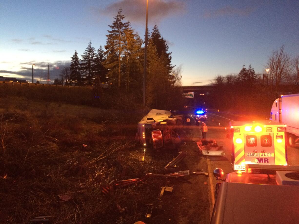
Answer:
[(284, 46), (273, 50), (265, 65), (265, 72), (243, 65), (238, 74), (218, 75), (211, 82), (215, 86), (213, 106), (236, 112), (265, 111), (280, 95), (299, 93), (299, 56), (292, 57)]

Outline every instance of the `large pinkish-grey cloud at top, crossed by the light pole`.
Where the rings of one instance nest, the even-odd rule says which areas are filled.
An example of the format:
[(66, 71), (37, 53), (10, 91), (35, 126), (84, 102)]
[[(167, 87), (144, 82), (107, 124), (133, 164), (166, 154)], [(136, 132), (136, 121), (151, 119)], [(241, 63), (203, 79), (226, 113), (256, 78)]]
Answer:
[[(109, 4), (106, 8), (98, 9), (104, 16), (115, 17), (118, 10), (122, 8), (122, 14), (126, 20), (132, 22), (145, 22), (146, 1), (140, 0), (120, 0)], [(159, 22), (166, 17), (173, 17), (185, 13), (185, 3), (181, 0), (155, 0), (149, 2), (149, 22)]]

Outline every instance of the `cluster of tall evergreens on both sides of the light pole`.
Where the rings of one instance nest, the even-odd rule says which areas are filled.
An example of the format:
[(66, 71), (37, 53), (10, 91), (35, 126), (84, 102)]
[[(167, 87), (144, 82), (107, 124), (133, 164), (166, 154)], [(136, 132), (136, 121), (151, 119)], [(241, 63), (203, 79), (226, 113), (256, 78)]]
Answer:
[[(66, 85), (107, 83), (114, 93), (135, 94), (141, 99), (143, 88), (144, 40), (135, 32), (120, 9), (107, 30), (106, 44), (96, 51), (89, 41), (81, 59), (75, 50), (71, 66), (61, 73)], [(180, 85), (181, 68), (171, 64), (171, 52), (166, 40), (155, 25), (148, 37), (147, 105), (165, 108), (172, 104), (169, 93)], [(57, 83), (61, 84), (61, 80)]]

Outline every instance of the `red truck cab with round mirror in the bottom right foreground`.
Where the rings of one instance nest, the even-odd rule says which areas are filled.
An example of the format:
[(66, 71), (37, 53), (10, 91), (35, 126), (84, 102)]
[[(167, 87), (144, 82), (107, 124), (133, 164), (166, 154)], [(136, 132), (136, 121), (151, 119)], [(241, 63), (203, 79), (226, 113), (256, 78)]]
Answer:
[(214, 176), (216, 200), (210, 224), (298, 223), (299, 166), (247, 164), (245, 172)]

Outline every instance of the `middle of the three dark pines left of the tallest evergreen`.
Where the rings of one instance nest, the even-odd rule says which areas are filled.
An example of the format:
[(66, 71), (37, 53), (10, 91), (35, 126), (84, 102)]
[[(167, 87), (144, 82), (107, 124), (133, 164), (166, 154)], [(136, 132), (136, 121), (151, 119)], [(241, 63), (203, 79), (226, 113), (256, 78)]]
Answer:
[(91, 41), (89, 41), (86, 50), (83, 55), (81, 55), (82, 59), (80, 60), (80, 70), (85, 79), (85, 83), (87, 85), (91, 85), (94, 79), (94, 61), (95, 61), (95, 53), (94, 47), (91, 47)]

